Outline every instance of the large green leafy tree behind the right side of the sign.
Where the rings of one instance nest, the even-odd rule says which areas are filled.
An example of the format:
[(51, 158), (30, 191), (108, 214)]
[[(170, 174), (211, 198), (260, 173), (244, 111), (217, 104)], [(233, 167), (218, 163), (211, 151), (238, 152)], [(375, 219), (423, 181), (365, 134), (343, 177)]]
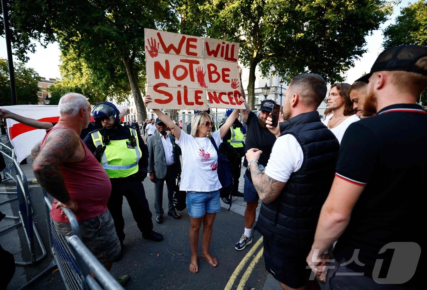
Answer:
[(392, 8), (384, 0), (208, 0), (202, 11), (208, 35), (240, 43), (253, 107), (257, 65), (287, 81), (305, 72), (340, 81)]

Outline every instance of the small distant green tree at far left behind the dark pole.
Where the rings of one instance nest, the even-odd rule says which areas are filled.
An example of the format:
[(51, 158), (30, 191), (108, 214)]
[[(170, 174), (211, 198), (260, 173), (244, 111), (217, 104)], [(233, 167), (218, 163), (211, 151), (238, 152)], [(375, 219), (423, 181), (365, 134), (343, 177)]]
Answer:
[[(18, 105), (35, 105), (38, 103), (38, 85), (40, 76), (22, 62), (15, 62), (15, 89)], [(12, 105), (10, 91), (9, 66), (7, 59), (0, 59), (0, 105)]]

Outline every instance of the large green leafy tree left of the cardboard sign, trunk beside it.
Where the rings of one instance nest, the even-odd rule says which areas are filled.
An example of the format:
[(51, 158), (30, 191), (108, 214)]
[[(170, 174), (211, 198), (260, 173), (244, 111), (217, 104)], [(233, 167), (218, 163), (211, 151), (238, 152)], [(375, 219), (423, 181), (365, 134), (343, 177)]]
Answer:
[(9, 4), (13, 46), (21, 59), (29, 39), (58, 40), (84, 59), (100, 85), (132, 92), (139, 120), (146, 119), (143, 28), (176, 31), (177, 18), (166, 0), (21, 0)]

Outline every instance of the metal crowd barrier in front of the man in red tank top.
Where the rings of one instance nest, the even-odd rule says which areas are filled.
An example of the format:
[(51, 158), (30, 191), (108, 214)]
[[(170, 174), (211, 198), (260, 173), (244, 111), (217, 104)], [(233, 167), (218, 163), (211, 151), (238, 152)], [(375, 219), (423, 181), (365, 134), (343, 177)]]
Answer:
[[(123, 290), (123, 287), (117, 282), (113, 276), (105, 269), (97, 258), (83, 244), (80, 236), (79, 223), (76, 216), (68, 208), (62, 208), (64, 214), (70, 221), (70, 226), (73, 235), (65, 237), (56, 232), (53, 221), (50, 218), (52, 202), (47, 198), (47, 193), (43, 190), (44, 204), (46, 209), (47, 229), (49, 234), (49, 243), (52, 256), (52, 264), (35, 278), (25, 284), (21, 289), (24, 289), (29, 284), (34, 282), (44, 273), (53, 268), (58, 267), (62, 281), (67, 290), (79, 289), (104, 289)], [(94, 274), (97, 281), (91, 276)]]

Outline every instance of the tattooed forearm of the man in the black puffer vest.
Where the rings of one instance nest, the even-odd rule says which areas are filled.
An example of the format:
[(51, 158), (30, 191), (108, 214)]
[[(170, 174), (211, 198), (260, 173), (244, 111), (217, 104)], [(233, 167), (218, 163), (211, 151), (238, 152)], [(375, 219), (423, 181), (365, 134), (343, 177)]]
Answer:
[(286, 182), (280, 182), (271, 178), (262, 173), (257, 164), (253, 164), (251, 164), (252, 183), (264, 203), (272, 202), (279, 196)]

